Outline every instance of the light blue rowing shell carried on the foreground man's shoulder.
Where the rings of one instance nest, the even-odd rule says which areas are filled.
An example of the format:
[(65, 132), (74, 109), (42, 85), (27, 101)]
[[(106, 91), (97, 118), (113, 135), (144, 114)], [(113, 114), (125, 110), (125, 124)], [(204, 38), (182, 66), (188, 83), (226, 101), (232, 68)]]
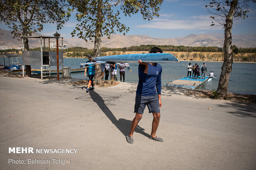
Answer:
[(109, 55), (103, 57), (95, 57), (93, 60), (106, 62), (152, 62), (152, 63), (173, 63), (179, 60), (169, 53), (147, 53), (147, 54), (124, 54), (124, 55)]

